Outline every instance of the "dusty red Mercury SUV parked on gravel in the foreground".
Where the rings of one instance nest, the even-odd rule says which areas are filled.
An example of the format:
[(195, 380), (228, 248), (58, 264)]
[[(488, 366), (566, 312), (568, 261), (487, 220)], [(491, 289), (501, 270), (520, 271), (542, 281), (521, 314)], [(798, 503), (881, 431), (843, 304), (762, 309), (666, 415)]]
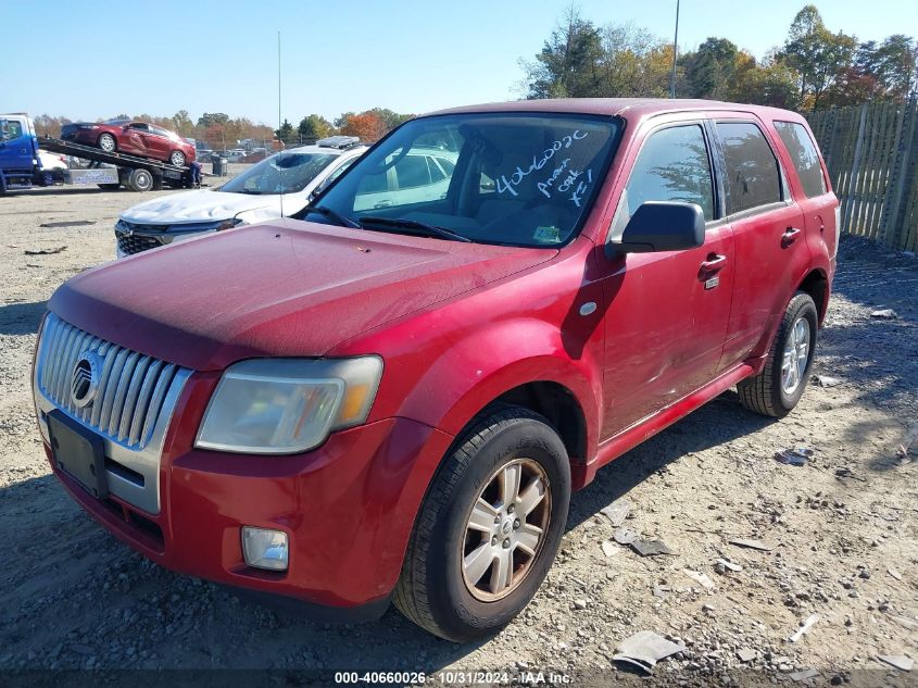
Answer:
[(64, 284), (39, 427), (71, 495), (164, 566), (351, 620), (394, 600), (468, 640), (532, 598), (602, 465), (732, 386), (794, 408), (837, 213), (783, 110), (418, 117), (298, 220)]

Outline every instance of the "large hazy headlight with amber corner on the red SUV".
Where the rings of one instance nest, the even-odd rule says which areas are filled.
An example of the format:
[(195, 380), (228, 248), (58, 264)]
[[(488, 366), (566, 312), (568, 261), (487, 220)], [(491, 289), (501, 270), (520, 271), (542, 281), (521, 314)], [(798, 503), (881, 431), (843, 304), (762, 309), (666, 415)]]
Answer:
[(382, 359), (252, 359), (224, 373), (194, 446), (253, 454), (313, 449), (366, 421)]

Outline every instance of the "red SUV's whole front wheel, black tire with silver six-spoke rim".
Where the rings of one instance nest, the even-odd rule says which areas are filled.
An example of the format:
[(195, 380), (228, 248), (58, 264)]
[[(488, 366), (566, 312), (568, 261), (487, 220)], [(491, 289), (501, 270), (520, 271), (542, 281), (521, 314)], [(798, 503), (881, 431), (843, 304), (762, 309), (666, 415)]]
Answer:
[[(517, 499), (507, 500), (515, 509), (502, 493), (512, 483), (505, 476), (513, 475), (520, 476)], [(482, 509), (482, 499), (496, 506)], [(482, 413), (453, 445), (428, 488), (395, 586), (395, 605), (422, 628), (456, 642), (499, 630), (544, 580), (569, 502), (567, 451), (548, 421), (519, 406)], [(475, 566), (481, 562), (490, 563)], [(500, 575), (502, 564), (506, 577)]]

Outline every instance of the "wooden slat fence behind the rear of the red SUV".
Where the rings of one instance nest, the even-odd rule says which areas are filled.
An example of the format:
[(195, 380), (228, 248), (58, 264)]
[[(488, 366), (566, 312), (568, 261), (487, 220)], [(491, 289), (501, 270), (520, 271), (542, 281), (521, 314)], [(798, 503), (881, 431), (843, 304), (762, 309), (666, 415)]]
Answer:
[(918, 249), (918, 101), (807, 116), (841, 200), (842, 232)]

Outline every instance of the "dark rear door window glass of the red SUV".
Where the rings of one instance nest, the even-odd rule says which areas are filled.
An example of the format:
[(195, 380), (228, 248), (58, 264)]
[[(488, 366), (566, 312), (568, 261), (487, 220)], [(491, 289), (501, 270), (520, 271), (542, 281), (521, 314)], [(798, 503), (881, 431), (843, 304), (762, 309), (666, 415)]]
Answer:
[(779, 202), (780, 168), (762, 129), (751, 122), (718, 122), (716, 127), (724, 147), (728, 214)]

